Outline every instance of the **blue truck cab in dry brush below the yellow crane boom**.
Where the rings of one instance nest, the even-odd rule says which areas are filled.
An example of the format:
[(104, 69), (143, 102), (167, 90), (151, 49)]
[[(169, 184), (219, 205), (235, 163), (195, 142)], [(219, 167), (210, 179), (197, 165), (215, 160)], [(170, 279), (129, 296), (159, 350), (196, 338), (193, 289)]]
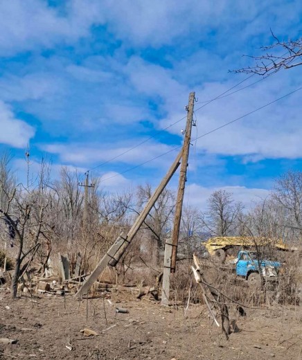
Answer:
[(260, 260), (256, 251), (239, 251), (233, 263), (236, 264), (236, 275), (245, 278), (251, 287), (260, 287), (261, 283), (278, 280), (281, 263), (271, 260)]

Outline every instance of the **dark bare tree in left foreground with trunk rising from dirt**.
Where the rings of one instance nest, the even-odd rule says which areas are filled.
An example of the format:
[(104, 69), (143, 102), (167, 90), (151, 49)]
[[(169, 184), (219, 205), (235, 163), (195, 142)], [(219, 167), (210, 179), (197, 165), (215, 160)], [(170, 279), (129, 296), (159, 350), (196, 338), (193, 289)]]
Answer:
[[(0, 208), (1, 218), (10, 225), (14, 242), (17, 246), (15, 254), (15, 270), (12, 276), (12, 297), (17, 296), (19, 279), (33, 260), (46, 235), (48, 220), (51, 217), (51, 190), (46, 186), (50, 168), (42, 161), (39, 181), (35, 188), (24, 188), (22, 184), (9, 192), (2, 188), (6, 195), (6, 205)], [(54, 211), (54, 216), (57, 211)]]

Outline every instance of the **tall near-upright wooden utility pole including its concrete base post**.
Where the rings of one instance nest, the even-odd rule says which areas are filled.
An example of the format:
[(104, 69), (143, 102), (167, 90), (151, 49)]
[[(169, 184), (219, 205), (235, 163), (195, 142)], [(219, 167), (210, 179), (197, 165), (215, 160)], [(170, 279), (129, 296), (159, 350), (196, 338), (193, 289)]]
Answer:
[(175, 207), (175, 218), (172, 230), (172, 239), (166, 241), (165, 255), (163, 259), (163, 287), (161, 292), (161, 305), (169, 305), (170, 296), (170, 273), (175, 273), (176, 258), (177, 258), (177, 244), (179, 237), (179, 226), (181, 220), (181, 208), (184, 201), (184, 188), (186, 183), (186, 170), (188, 167), (188, 154), (190, 148), (190, 137), (193, 123), (195, 92), (190, 93), (188, 99), (188, 111), (186, 120), (186, 132), (184, 138), (184, 145), (182, 147), (181, 168), (179, 174), (179, 185), (177, 192), (177, 200)]

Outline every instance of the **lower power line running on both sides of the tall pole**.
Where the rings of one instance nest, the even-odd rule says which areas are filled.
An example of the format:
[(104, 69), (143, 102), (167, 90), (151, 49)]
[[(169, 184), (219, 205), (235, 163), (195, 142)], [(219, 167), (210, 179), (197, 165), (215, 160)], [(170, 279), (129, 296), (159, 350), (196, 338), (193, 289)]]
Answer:
[[(245, 117), (247, 117), (247, 116), (249, 116), (249, 115), (251, 115), (251, 114), (254, 114), (254, 113), (256, 113), (257, 111), (260, 111), (261, 109), (264, 109), (265, 107), (268, 107), (269, 105), (272, 105), (272, 104), (274, 104), (275, 102), (277, 102), (277, 101), (279, 101), (279, 100), (282, 100), (283, 98), (286, 98), (287, 96), (290, 96), (290, 95), (292, 95), (293, 93), (296, 93), (297, 91), (300, 91), (301, 89), (302, 89), (302, 87), (299, 87), (298, 89), (295, 89), (294, 91), (291, 91), (290, 93), (287, 93), (287, 94), (281, 96), (280, 98), (277, 98), (277, 99), (275, 99), (275, 100), (273, 100), (273, 101), (271, 101), (271, 102), (268, 102), (267, 104), (265, 104), (265, 105), (263, 105), (263, 106), (261, 106), (261, 107), (258, 107), (257, 109), (255, 109), (255, 110), (253, 110), (253, 111), (250, 111), (249, 113), (247, 113), (247, 114), (245, 114), (245, 115), (242, 115), (242, 116), (240, 116), (239, 118), (236, 118), (236, 119), (234, 119), (234, 120), (231, 120), (231, 121), (229, 121), (228, 123), (225, 123), (225, 124), (223, 124), (223, 125), (221, 125), (221, 126), (219, 126), (219, 127), (216, 127), (215, 129), (212, 129), (212, 130), (209, 131), (209, 132), (206, 132), (206, 133), (204, 133), (204, 134), (202, 134), (202, 135), (200, 135), (200, 136), (197, 136), (197, 137), (194, 138), (192, 141), (197, 141), (199, 138), (203, 138), (204, 136), (207, 136), (207, 135), (209, 135), (209, 134), (212, 134), (213, 132), (216, 132), (217, 130), (220, 130), (220, 129), (222, 129), (223, 127), (226, 127), (226, 126), (228, 126), (228, 125), (230, 125), (230, 124), (232, 124), (232, 123), (236, 123), (236, 121), (241, 120), (242, 118), (245, 118)], [(134, 169), (136, 169), (136, 168), (139, 168), (139, 167), (145, 165), (146, 163), (150, 163), (150, 162), (153, 161), (153, 160), (159, 159), (161, 156), (165, 156), (166, 154), (170, 154), (170, 152), (173, 152), (173, 151), (179, 149), (181, 146), (182, 146), (182, 145), (179, 145), (179, 146), (177, 146), (177, 147), (173, 147), (173, 149), (169, 150), (168, 152), (164, 152), (164, 153), (161, 154), (161, 155), (155, 156), (154, 158), (149, 159), (149, 160), (147, 160), (147, 161), (144, 161), (143, 163), (140, 163), (139, 165), (135, 165), (135, 166), (133, 166), (132, 168), (129, 168), (129, 169), (127, 169), (127, 170), (124, 170), (123, 172), (118, 172), (117, 174), (114, 174), (114, 175), (112, 175), (111, 177), (107, 177), (107, 178), (105, 178), (105, 179), (102, 179), (102, 181), (106, 181), (106, 180), (109, 180), (109, 179), (113, 179), (114, 177), (118, 177), (118, 175), (125, 174), (125, 172), (129, 172), (129, 171), (131, 171), (131, 170), (134, 170)]]

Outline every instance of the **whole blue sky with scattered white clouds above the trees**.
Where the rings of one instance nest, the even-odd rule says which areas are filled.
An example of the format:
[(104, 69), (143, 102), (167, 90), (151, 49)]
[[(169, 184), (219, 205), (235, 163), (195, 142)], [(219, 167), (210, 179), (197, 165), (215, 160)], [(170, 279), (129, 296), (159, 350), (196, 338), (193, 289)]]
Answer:
[[(108, 191), (156, 186), (185, 120), (163, 129), (186, 116), (188, 93), (198, 109), (245, 80), (229, 70), (272, 44), (269, 28), (285, 40), (302, 33), (301, 1), (10, 0), (0, 17), (1, 150), (19, 179), (27, 145), (31, 170), (47, 154), (53, 177), (60, 165), (85, 172), (106, 162), (93, 174)], [(301, 87), (301, 73), (281, 71), (199, 109), (193, 138)], [(224, 188), (248, 206), (279, 174), (301, 170), (301, 94), (193, 141), (188, 201), (202, 207)]]

